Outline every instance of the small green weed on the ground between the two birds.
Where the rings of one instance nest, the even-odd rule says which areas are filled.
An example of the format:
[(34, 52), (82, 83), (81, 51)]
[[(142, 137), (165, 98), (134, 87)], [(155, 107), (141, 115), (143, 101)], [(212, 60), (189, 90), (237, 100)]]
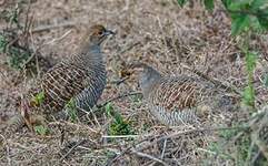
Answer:
[(112, 118), (112, 123), (109, 127), (110, 135), (132, 135), (135, 134), (130, 122), (123, 120), (120, 113), (118, 113), (111, 103), (106, 105), (106, 113)]

